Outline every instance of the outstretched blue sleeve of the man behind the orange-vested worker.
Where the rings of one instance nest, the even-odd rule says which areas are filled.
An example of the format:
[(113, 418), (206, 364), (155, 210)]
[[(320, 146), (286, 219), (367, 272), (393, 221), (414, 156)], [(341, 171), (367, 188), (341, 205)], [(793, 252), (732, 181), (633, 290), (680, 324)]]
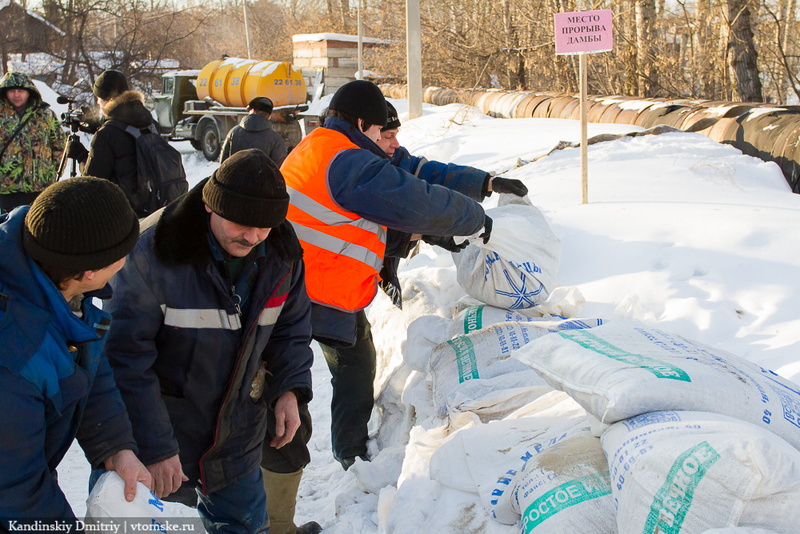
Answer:
[(454, 163), (441, 163), (412, 156), (404, 147), (395, 150), (392, 164), (429, 184), (442, 185), (480, 202), (488, 190), (489, 173)]

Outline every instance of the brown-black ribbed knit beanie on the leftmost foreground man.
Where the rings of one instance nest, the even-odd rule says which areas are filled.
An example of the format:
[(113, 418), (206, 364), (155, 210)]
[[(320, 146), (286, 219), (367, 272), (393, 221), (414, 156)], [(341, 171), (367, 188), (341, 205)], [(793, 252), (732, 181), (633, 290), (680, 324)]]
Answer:
[(46, 267), (82, 272), (108, 267), (133, 250), (139, 220), (125, 193), (102, 178), (56, 182), (25, 215), (22, 245)]

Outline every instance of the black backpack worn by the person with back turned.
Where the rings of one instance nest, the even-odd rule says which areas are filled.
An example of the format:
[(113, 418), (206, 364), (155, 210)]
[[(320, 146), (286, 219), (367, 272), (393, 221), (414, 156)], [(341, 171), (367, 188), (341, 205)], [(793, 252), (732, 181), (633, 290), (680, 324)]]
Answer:
[(108, 124), (136, 140), (136, 184), (127, 194), (137, 215), (158, 211), (189, 190), (180, 152), (161, 137), (155, 124), (142, 129), (117, 120)]

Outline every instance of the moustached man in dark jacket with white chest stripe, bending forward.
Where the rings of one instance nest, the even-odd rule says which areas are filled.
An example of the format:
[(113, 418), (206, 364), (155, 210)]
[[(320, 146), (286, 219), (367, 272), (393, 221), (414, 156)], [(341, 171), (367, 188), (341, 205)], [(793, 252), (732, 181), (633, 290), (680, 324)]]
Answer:
[(267, 525), (262, 443), (279, 473), (310, 461), (310, 303), (288, 206), (267, 155), (237, 152), (145, 220), (113, 280), (107, 354), (140, 457), (156, 495), (197, 506), (210, 533)]

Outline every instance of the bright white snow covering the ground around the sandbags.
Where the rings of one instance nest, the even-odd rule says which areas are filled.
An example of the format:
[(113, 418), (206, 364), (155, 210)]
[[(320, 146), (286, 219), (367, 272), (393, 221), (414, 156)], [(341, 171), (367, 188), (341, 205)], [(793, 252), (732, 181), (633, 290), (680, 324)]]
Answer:
[[(393, 103), (404, 118), (406, 102)], [(634, 130), (589, 125), (590, 136)], [(778, 167), (699, 134), (622, 138), (590, 146), (589, 203), (582, 205), (579, 149), (537, 159), (578, 136), (574, 121), (493, 119), (456, 104), (426, 106), (400, 130), (412, 154), (525, 182), (561, 239), (558, 282), (583, 294), (580, 317), (642, 321), (800, 383), (793, 231), (800, 196), (790, 193)], [(188, 143), (177, 146), (192, 182), (216, 168)], [(496, 203), (497, 195), (485, 206)], [(459, 429), (436, 415), (424, 365), (465, 296), (451, 255), (422, 245), (402, 263), (400, 278), (402, 311), (383, 294), (369, 308), (379, 358), (373, 459), (347, 472), (330, 452), (330, 379), (315, 348), (312, 463), (300, 486), (297, 523), (315, 520), (330, 534), (517, 532), (491, 519), (476, 493), (442, 483), (458, 478), (458, 468), (432, 475), (431, 457)], [(501, 435), (489, 435), (503, 446)], [(73, 447), (59, 473), (82, 515), (88, 467), (80, 449)]]

